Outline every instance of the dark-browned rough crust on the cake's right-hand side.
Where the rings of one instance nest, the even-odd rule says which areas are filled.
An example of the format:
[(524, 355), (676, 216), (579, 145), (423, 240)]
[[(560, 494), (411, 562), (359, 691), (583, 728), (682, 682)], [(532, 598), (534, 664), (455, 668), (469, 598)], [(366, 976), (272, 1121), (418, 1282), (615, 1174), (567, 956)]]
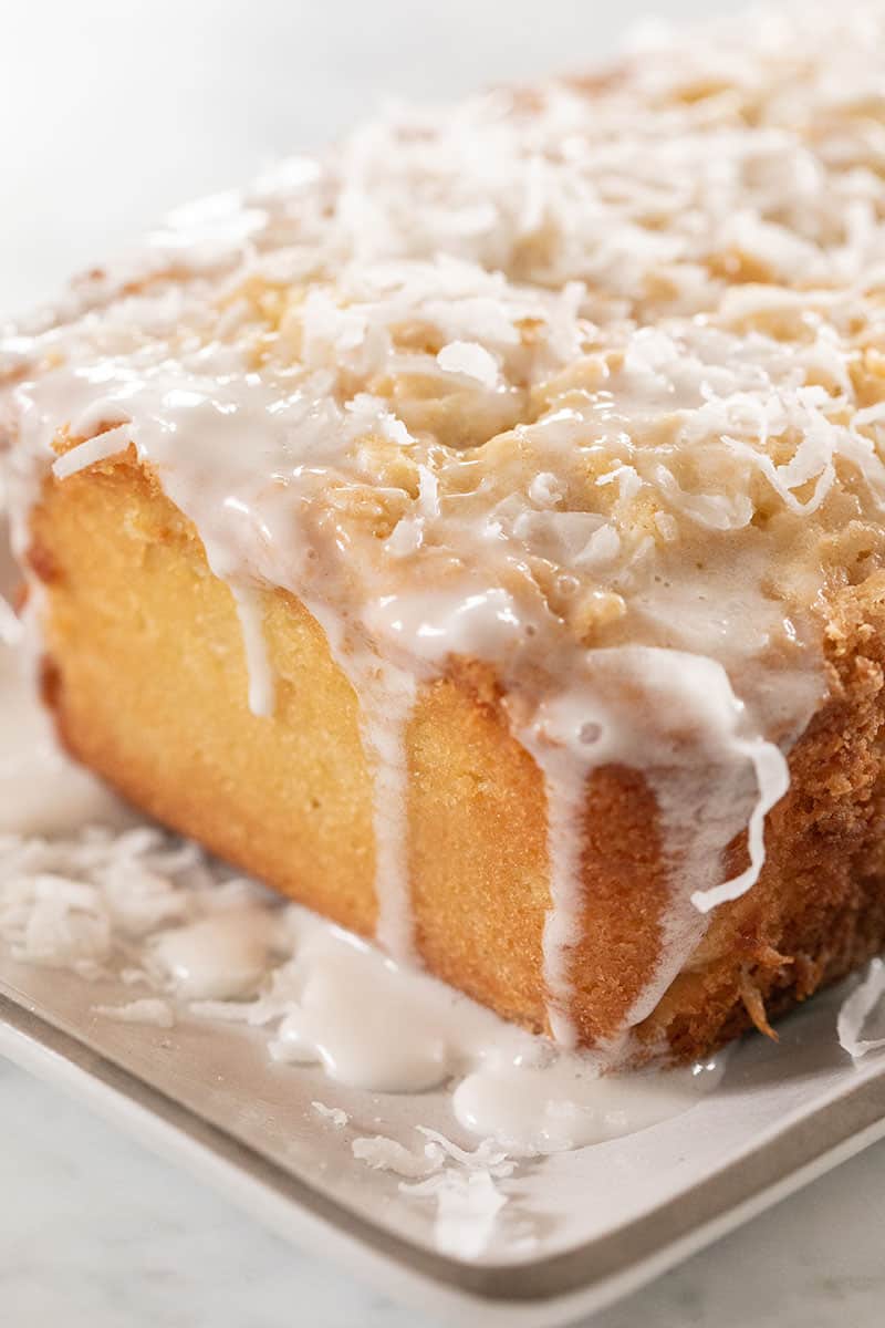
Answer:
[[(789, 754), (766, 866), (637, 1031), (689, 1054), (839, 980), (885, 946), (885, 575), (848, 587), (825, 628), (828, 697)], [(732, 846), (740, 853), (740, 846)], [(734, 866), (734, 862), (732, 862)], [(715, 1031), (715, 1032), (714, 1032)]]

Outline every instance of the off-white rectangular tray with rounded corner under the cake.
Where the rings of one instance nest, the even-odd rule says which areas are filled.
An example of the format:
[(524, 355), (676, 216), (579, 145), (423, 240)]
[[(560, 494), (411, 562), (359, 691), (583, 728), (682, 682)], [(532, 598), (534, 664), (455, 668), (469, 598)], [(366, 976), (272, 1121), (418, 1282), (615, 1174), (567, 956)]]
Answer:
[[(117, 1024), (84, 981), (0, 956), (0, 1053), (85, 1098), (279, 1234), (459, 1324), (561, 1324), (673, 1267), (885, 1135), (885, 1058), (836, 1040), (845, 988), (732, 1050), (719, 1088), (638, 1134), (523, 1163), (482, 1254), (439, 1248), (434, 1203), (354, 1158), (356, 1137), (414, 1149), (452, 1129), (444, 1092), (382, 1096), (273, 1065), (243, 1027)], [(340, 1108), (340, 1126), (313, 1105)], [(462, 1143), (468, 1143), (460, 1138)], [(475, 1141), (474, 1141), (475, 1142)]]

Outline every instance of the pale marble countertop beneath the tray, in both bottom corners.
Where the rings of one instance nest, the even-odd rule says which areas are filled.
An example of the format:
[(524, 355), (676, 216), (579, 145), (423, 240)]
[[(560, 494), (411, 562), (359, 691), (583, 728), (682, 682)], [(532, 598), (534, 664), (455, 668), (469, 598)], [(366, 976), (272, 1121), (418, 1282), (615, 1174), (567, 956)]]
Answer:
[[(9, 1328), (434, 1328), (267, 1234), (0, 1061)], [(597, 1315), (593, 1328), (878, 1328), (885, 1142)]]

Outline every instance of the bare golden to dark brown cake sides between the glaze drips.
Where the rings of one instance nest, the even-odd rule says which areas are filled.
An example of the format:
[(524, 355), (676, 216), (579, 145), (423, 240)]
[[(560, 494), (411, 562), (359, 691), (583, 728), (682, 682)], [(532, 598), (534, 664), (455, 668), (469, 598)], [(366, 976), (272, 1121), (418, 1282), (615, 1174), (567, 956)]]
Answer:
[[(292, 898), (370, 934), (370, 782), (350, 685), (284, 591), (265, 595), (272, 720), (247, 706), (240, 631), (192, 526), (134, 463), (46, 483), (31, 566), (49, 599), (45, 697), (66, 746), (134, 803)], [(788, 1008), (885, 942), (885, 576), (849, 588), (827, 637), (831, 697), (791, 754), (758, 884), (640, 1027), (691, 1057)], [(410, 872), (427, 967), (507, 1017), (545, 1024), (549, 903), (537, 768), (488, 669), (419, 695), (407, 738)], [(742, 841), (732, 846), (739, 867)], [(654, 797), (608, 768), (588, 789), (572, 1016), (590, 1045), (654, 969), (667, 902)]]

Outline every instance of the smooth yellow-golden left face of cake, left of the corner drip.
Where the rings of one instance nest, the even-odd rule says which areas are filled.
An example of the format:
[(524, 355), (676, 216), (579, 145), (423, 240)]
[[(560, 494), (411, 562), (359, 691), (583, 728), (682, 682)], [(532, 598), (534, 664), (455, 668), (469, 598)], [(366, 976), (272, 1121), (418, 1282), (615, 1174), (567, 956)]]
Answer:
[[(293, 596), (264, 596), (275, 717), (248, 708), (231, 594), (135, 466), (49, 485), (31, 563), (49, 596), (45, 696), (69, 750), (165, 823), (326, 916), (377, 924), (357, 703)], [(417, 944), (502, 1013), (544, 1023), (543, 788), (491, 704), (441, 680), (410, 725)], [(442, 750), (441, 750), (442, 748)]]

